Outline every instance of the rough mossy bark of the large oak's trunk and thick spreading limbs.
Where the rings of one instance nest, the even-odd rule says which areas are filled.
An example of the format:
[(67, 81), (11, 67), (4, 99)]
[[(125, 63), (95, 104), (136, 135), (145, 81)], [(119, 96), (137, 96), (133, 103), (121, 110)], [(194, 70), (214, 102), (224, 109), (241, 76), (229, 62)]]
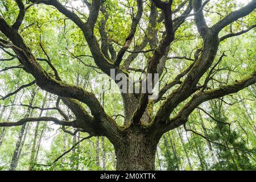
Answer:
[[(52, 117), (44, 117), (23, 118), (18, 122), (0, 123), (0, 126), (23, 125), (21, 130), (22, 133), (20, 133), (21, 136), (16, 144), (16, 148), (19, 148), (20, 146), (27, 122), (53, 121), (58, 125), (73, 126), (77, 129), (82, 129), (83, 132), (89, 133), (94, 137), (107, 137), (114, 145), (115, 153), (117, 155), (118, 170), (154, 169), (156, 146), (160, 137), (162, 137), (164, 133), (186, 123), (188, 121), (189, 114), (191, 114), (192, 111), (195, 110), (196, 107), (201, 103), (214, 98), (223, 97), (231, 93), (236, 93), (256, 82), (256, 73), (253, 72), (241, 80), (221, 86), (217, 89), (200, 90), (197, 88), (200, 78), (205, 74), (205, 72), (207, 72), (213, 63), (214, 58), (216, 57), (218, 46), (220, 44), (218, 33), (222, 30), (222, 28), (228, 26), (235, 20), (250, 14), (256, 7), (256, 1), (251, 1), (245, 7), (242, 7), (237, 11), (233, 11), (222, 18), (220, 21), (214, 24), (214, 26), (208, 27), (204, 18), (203, 9), (209, 0), (204, 1), (204, 3), (202, 3), (201, 0), (189, 1), (188, 7), (175, 19), (172, 19), (173, 13), (175, 12), (175, 10), (172, 12), (171, 9), (173, 6), (172, 1), (164, 2), (160, 0), (152, 0), (152, 3), (154, 3), (155, 6), (151, 6), (151, 17), (153, 17), (153, 14), (156, 13), (155, 7), (162, 11), (163, 18), (161, 18), (162, 20), (160, 20), (160, 22), (163, 21), (164, 32), (158, 46), (155, 45), (158, 43), (158, 41), (154, 41), (153, 43), (152, 40), (148, 40), (150, 46), (155, 47), (155, 49), (152, 51), (152, 56), (147, 60), (146, 75), (148, 73), (156, 73), (158, 72), (158, 68), (163, 68), (163, 64), (160, 62), (164, 63), (165, 60), (161, 61), (161, 59), (167, 53), (167, 48), (170, 47), (170, 44), (175, 40), (175, 31), (181, 26), (188, 16), (194, 16), (197, 30), (203, 39), (203, 49), (201, 49), (201, 55), (198, 57), (198, 59), (195, 59), (195, 63), (192, 64), (192, 67), (184, 73), (186, 77), (184, 78), (183, 82), (177, 80), (174, 82), (174, 84), (168, 86), (168, 89), (170, 89), (172, 86), (180, 84), (177, 89), (172, 91), (166, 97), (163, 104), (156, 112), (154, 119), (152, 119), (150, 123), (142, 122), (143, 114), (148, 106), (149, 94), (122, 94), (125, 110), (125, 125), (119, 127), (114, 119), (106, 114), (104, 107), (102, 107), (101, 103), (93, 93), (87, 92), (79, 86), (74, 86), (63, 82), (57, 74), (56, 69), (51, 63), (49, 63), (49, 61), (48, 64), (55, 72), (55, 76), (51, 76), (42, 67), (42, 65), (39, 64), (38, 60), (33, 54), (34, 50), (31, 50), (27, 46), (24, 39), (19, 34), (18, 29), (20, 24), (23, 22), (22, 20), (26, 13), (26, 9), (24, 9), (22, 1), (17, 2), (19, 7), (19, 15), (13, 26), (7, 23), (6, 20), (0, 15), (0, 31), (4, 35), (4, 38), (7, 38), (7, 40), (0, 40), (0, 46), (7, 49), (13, 49), (20, 64), (23, 65), (24, 70), (35, 78), (36, 84), (43, 90), (61, 97), (64, 104), (67, 105), (75, 114), (76, 120), (69, 122), (60, 121), (59, 119)], [(77, 15), (74, 11), (67, 9), (67, 7), (57, 0), (30, 0), (30, 2), (35, 4), (44, 3), (46, 5), (54, 6), (61, 14), (72, 20), (72, 22), (75, 23), (84, 34), (84, 38), (88, 44), (95, 64), (106, 75), (110, 76), (110, 69), (115, 69), (116, 74), (123, 73), (125, 76), (129, 75), (129, 73), (120, 67), (120, 64), (123, 55), (125, 55), (125, 52), (130, 47), (131, 40), (134, 38), (139, 20), (142, 18), (142, 1), (137, 0), (138, 10), (136, 16), (134, 16), (132, 19), (130, 33), (125, 40), (125, 44), (119, 50), (117, 57), (115, 57), (113, 54), (112, 57), (115, 57), (114, 61), (109, 60), (108, 51), (106, 48), (110, 48), (111, 46), (108, 44), (108, 42), (106, 42), (107, 39), (103, 39), (102, 47), (100, 47), (98, 38), (94, 34), (94, 28), (96, 26), (99, 11), (101, 10), (101, 7), (104, 8), (104, 6), (102, 6), (102, 1), (92, 1), (92, 4), (88, 6), (90, 13), (86, 22), (84, 22), (84, 19), (80, 18), (80, 15)], [(182, 3), (181, 7), (184, 6), (184, 4), (185, 3)], [(176, 11), (179, 11), (181, 7), (178, 7)], [(189, 13), (191, 13), (192, 9), (194, 13), (191, 15)], [(103, 9), (101, 11), (104, 13)], [(155, 18), (152, 19), (154, 19), (153, 22), (155, 22)], [(104, 21), (106, 20), (107, 18)], [(148, 32), (152, 32), (152, 30)], [(102, 31), (104, 31), (104, 27), (102, 27)], [(104, 36), (106, 34), (104, 33), (105, 32), (101, 32), (102, 38), (105, 38)], [(152, 32), (152, 34), (155, 35), (155, 32)], [(145, 47), (144, 45), (146, 45), (146, 43), (143, 43), (141, 49)], [(132, 59), (135, 59), (135, 57), (136, 56), (133, 56)], [(187, 100), (188, 98), (191, 98), (191, 100), (185, 103), (182, 109), (180, 109), (180, 111), (170, 119), (170, 115), (173, 114), (174, 109), (176, 109), (181, 102)], [(87, 105), (90, 112), (87, 111), (85, 107), (79, 103), (79, 101)], [(14, 155), (15, 158), (16, 155), (18, 155), (18, 151), (16, 153), (17, 154)]]

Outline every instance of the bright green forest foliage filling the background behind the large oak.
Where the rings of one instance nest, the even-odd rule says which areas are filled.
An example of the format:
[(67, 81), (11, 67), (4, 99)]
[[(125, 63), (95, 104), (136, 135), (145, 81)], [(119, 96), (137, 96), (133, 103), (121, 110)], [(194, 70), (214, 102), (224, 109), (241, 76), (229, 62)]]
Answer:
[[(26, 3), (27, 1), (23, 1)], [(64, 1), (61, 1), (64, 2)], [(65, 1), (67, 6), (71, 1)], [(150, 1), (147, 1), (149, 3)], [(174, 1), (176, 9), (181, 1)], [(146, 4), (146, 3), (145, 3)], [(26, 3), (26, 6), (31, 3)], [(130, 32), (131, 13), (137, 11), (134, 1), (106, 1), (106, 9), (109, 13), (109, 19), (106, 23), (106, 32), (108, 38), (114, 44), (116, 52), (125, 43), (125, 39)], [(231, 11), (238, 9), (241, 5), (235, 1), (221, 0), (213, 1), (207, 5), (210, 12), (205, 12), (209, 25), (216, 23), (222, 16), (229, 14)], [(77, 11), (82, 7), (77, 7)], [(144, 35), (150, 37), (146, 30), (146, 22), (149, 19), (150, 6), (144, 5), (143, 21), (140, 22), (139, 28), (135, 34), (134, 42), (129, 49), (133, 49), (142, 43)], [(79, 17), (84, 20), (88, 18), (88, 11), (81, 11)], [(212, 12), (221, 12), (221, 17)], [(0, 14), (5, 20), (13, 24), (16, 16), (18, 16), (18, 6), (15, 1), (0, 1)], [(160, 16), (160, 11), (158, 12)], [(179, 12), (180, 13), (180, 12)], [(158, 18), (159, 18), (158, 16)], [(100, 19), (105, 15), (100, 13), (94, 34), (101, 43), (99, 27)], [(232, 23), (232, 26), (225, 27), (220, 32), (220, 36), (226, 35), (232, 29), (233, 32), (241, 31), (246, 27), (256, 23), (256, 14), (251, 13), (242, 20), (239, 19)], [(162, 37), (164, 31), (163, 23), (156, 23), (155, 30), (158, 31), (158, 38)], [(195, 49), (202, 47), (202, 40), (196, 30), (195, 22), (192, 19), (186, 20), (183, 25), (175, 33), (175, 42), (170, 46), (170, 54), (168, 56), (185, 56), (194, 59)], [(32, 48), (32, 52), (37, 58), (51, 60), (51, 63), (59, 72), (63, 81), (72, 85), (81, 86), (89, 92), (93, 92), (102, 102), (102, 87), (107, 90), (104, 95), (104, 109), (107, 114), (113, 116), (118, 125), (122, 125), (123, 118), (123, 101), (120, 94), (110, 92), (114, 88), (114, 83), (109, 81), (109, 77), (102, 74), (100, 69), (96, 67), (92, 54), (88, 48), (88, 43), (84, 39), (83, 32), (67, 17), (59, 13), (56, 9), (47, 5), (31, 6), (26, 13), (20, 34), (23, 36), (27, 46)], [(2, 33), (0, 37), (5, 38)], [(150, 49), (146, 46), (144, 50)], [(47, 55), (46, 55), (46, 53)], [(244, 35), (224, 40), (219, 47), (214, 63), (217, 63), (222, 52), (227, 55), (216, 67), (218, 71), (212, 75), (212, 80), (208, 86), (217, 88), (230, 82), (239, 80), (244, 75), (255, 71), (256, 68), (256, 44), (255, 30), (247, 32)], [(11, 53), (14, 53), (11, 51)], [(152, 51), (141, 53), (131, 64), (133, 68), (144, 69), (147, 65), (148, 58), (152, 56)], [(0, 58), (8, 59), (11, 56), (6, 52), (0, 52)], [(124, 58), (126, 58), (125, 55)], [(164, 70), (164, 77), (161, 80), (160, 88), (167, 82), (184, 71), (192, 62), (181, 59), (169, 59)], [(0, 61), (0, 70), (6, 67), (19, 65), (17, 59), (10, 61)], [(52, 69), (46, 61), (40, 61), (40, 65), (47, 72), (53, 74)], [(203, 85), (208, 73), (201, 78), (199, 84)], [(130, 73), (133, 75), (133, 72)], [(183, 81), (184, 78), (181, 78)], [(24, 71), (22, 68), (10, 69), (4, 73), (0, 72), (0, 95), (5, 96), (7, 93), (13, 92), (19, 86), (33, 81), (34, 78)], [(111, 86), (110, 86), (111, 85)], [(174, 88), (168, 90), (164, 97), (168, 96)], [(11, 105), (28, 105), (32, 92), (36, 91), (33, 106), (40, 107), (44, 99), (44, 91), (34, 85), (26, 89), (22, 89), (6, 100), (0, 100), (0, 113), (3, 105), (9, 105), (0, 121), (10, 122), (18, 121), (26, 115), (27, 107), (11, 106)], [(166, 133), (158, 144), (158, 156), (156, 157), (155, 168), (164, 170), (256, 170), (256, 116), (255, 116), (255, 85), (242, 90), (239, 93), (232, 94), (220, 100), (214, 100), (201, 104), (207, 113), (200, 110), (201, 118), (197, 110), (189, 117), (187, 129), (196, 131), (197, 134), (184, 129), (175, 129)], [(189, 100), (190, 98), (188, 98)], [(56, 106), (57, 96), (51, 94), (47, 97), (47, 107)], [(188, 101), (185, 100), (175, 109), (175, 112), (181, 109)], [(150, 114), (154, 114), (159, 109), (163, 101), (155, 104), (154, 107), (148, 108)], [(86, 110), (88, 107), (84, 104)], [(74, 119), (75, 115), (62, 102), (61, 110)], [(11, 111), (11, 109), (13, 110)], [(9, 113), (11, 116), (9, 118)], [(40, 109), (33, 109), (31, 117), (38, 117)], [(119, 114), (119, 115), (118, 115)], [(44, 116), (63, 117), (56, 109), (44, 110)], [(117, 116), (118, 115), (118, 116)], [(115, 117), (116, 116), (116, 117)], [(172, 117), (172, 115), (171, 115)], [(206, 132), (203, 129), (203, 125)], [(27, 137), (24, 140), (18, 169), (27, 169), (29, 156), (31, 153), (32, 141), (34, 139), (36, 123), (30, 123), (27, 130)], [(67, 127), (68, 131), (73, 131)], [(0, 171), (7, 170), (10, 166), (11, 158), (14, 152), (15, 143), (20, 131), (19, 127), (6, 128), (3, 143), (0, 146)], [(181, 136), (179, 135), (179, 131)], [(0, 133), (2, 129), (0, 130)], [(203, 137), (201, 135), (203, 135)], [(39, 138), (42, 137), (40, 142)], [(85, 133), (80, 133), (80, 138), (76, 137), (76, 141), (86, 137)], [(183, 141), (181, 140), (183, 139)], [(205, 139), (207, 138), (207, 139)], [(69, 150), (74, 144), (73, 136), (52, 123), (42, 122), (39, 125), (36, 150), (38, 158), (34, 170), (101, 170), (103, 168), (103, 154), (105, 154), (106, 170), (115, 169), (115, 152), (114, 147), (108, 139), (105, 138), (103, 150), (100, 140), (99, 156), (100, 166), (96, 162), (96, 138), (91, 138), (81, 142), (73, 151), (68, 152), (63, 158), (57, 159), (63, 152)], [(209, 144), (210, 143), (210, 144)], [(210, 147), (212, 146), (212, 150)], [(105, 153), (104, 153), (105, 152)], [(213, 154), (213, 155), (212, 155)], [(216, 161), (213, 162), (213, 156)], [(42, 165), (44, 164), (44, 165)], [(48, 165), (48, 166), (47, 166)]]

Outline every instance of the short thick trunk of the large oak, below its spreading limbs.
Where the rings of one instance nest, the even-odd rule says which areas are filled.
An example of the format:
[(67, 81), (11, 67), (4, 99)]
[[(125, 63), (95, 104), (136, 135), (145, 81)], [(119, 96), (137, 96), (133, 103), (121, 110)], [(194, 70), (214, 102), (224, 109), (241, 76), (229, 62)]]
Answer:
[[(131, 127), (133, 128), (133, 127)], [(143, 131), (131, 129), (119, 144), (114, 144), (117, 170), (154, 170), (158, 141)]]

